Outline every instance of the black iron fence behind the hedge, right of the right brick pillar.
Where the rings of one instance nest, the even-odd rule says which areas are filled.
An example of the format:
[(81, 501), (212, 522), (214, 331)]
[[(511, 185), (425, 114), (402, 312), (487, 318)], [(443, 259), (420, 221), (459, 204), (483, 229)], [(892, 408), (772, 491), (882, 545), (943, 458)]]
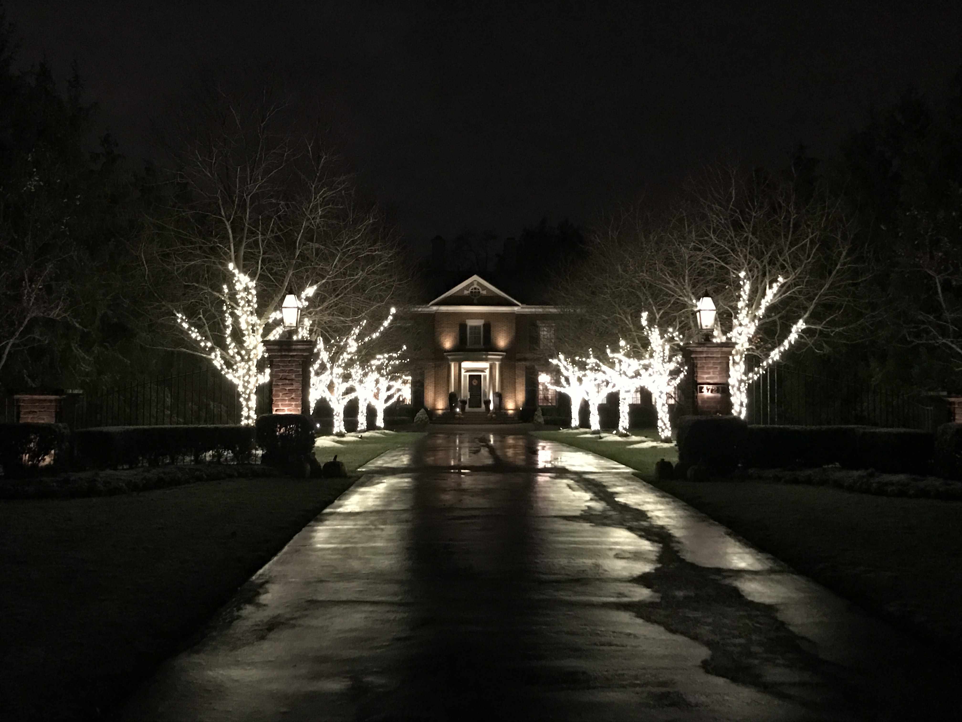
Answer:
[(869, 383), (857, 376), (828, 378), (773, 366), (748, 387), (748, 424), (870, 425), (921, 428), (938, 425), (935, 400), (921, 393)]

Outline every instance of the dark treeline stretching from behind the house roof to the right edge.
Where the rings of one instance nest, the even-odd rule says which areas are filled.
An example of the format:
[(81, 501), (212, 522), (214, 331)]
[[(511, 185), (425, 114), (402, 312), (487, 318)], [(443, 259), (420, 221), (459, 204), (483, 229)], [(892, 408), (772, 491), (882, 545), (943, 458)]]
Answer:
[[(670, 233), (678, 219), (692, 219), (694, 197), (714, 193), (706, 178), (719, 170), (698, 172), (675, 192), (641, 192), (637, 204), (603, 209), (584, 228), (542, 219), (515, 238), (436, 237), (423, 265), (425, 297), (478, 273), (522, 302), (570, 306), (578, 299), (586, 318), (570, 335), (583, 341), (590, 331), (596, 348), (617, 343), (618, 323), (609, 323), (611, 307), (596, 300), (603, 294), (595, 282), (606, 275), (622, 291), (635, 278), (640, 284), (644, 273), (632, 275), (623, 263), (631, 243), (637, 264), (650, 249), (642, 253), (636, 241), (621, 248), (628, 254), (621, 261), (605, 256), (612, 224), (620, 224), (622, 235), (626, 224), (642, 235)], [(962, 390), (962, 71), (947, 97), (909, 90), (891, 107), (873, 110), (829, 157), (815, 158), (799, 145), (783, 168), (737, 171), (756, 188), (793, 194), (799, 206), (818, 200), (831, 207), (850, 235), (848, 299), (833, 311), (834, 328), (824, 323), (819, 343), (799, 344), (784, 360), (817, 374), (846, 368), (873, 383)], [(734, 285), (727, 284), (729, 296)], [(636, 315), (660, 310), (635, 305)]]

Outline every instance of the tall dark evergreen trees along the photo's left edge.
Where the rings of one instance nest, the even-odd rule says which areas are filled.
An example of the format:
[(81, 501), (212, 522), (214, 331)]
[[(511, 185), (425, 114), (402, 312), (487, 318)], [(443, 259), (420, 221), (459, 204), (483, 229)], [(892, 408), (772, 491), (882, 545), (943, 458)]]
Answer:
[(130, 243), (150, 173), (96, 132), (76, 67), (64, 88), (45, 64), (15, 72), (15, 50), (0, 14), (0, 374), (14, 388), (121, 375), (149, 358)]

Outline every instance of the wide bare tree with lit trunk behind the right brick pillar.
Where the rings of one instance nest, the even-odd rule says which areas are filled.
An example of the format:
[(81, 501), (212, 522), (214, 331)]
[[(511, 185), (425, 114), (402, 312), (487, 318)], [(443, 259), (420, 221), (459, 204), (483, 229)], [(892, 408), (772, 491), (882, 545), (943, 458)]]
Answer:
[(823, 348), (851, 329), (864, 276), (853, 230), (827, 196), (802, 200), (771, 178), (713, 169), (667, 219), (648, 219), (636, 207), (602, 224), (589, 262), (562, 287), (606, 343), (620, 337), (641, 349), (648, 343), (643, 312), (691, 341), (700, 335), (696, 299), (713, 297), (716, 338), (736, 343), (735, 398), (751, 374), (780, 358), (788, 339)]

